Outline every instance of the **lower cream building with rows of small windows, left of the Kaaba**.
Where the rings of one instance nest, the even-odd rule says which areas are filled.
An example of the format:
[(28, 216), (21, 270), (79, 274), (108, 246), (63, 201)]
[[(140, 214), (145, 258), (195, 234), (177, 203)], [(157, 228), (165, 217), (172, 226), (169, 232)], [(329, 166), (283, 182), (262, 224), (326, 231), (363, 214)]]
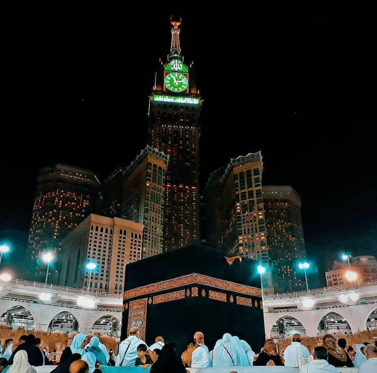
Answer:
[[(90, 214), (66, 238), (61, 246), (59, 284), (109, 294), (120, 294), (126, 264), (141, 259), (143, 224), (121, 218)], [(86, 268), (88, 263), (96, 268)]]

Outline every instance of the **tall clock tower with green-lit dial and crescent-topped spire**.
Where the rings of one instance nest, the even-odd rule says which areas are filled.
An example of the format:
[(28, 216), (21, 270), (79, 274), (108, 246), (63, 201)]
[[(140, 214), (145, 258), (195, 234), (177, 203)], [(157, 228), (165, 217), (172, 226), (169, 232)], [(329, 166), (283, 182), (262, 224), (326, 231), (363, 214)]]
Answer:
[[(160, 60), (149, 101), (149, 145), (169, 155), (165, 178), (164, 251), (199, 242), (199, 116), (194, 64), (185, 64), (179, 25), (172, 24), (166, 63)], [(153, 197), (152, 197), (153, 198)]]

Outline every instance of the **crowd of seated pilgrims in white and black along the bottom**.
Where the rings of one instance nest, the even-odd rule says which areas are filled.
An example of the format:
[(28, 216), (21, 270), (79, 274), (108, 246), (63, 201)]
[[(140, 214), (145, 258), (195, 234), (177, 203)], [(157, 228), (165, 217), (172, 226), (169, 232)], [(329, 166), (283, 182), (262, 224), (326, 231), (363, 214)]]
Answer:
[[(212, 351), (204, 344), (204, 335), (196, 332), (193, 341), (188, 341), (186, 349), (179, 357), (175, 343), (164, 343), (156, 337), (149, 347), (140, 339), (139, 330), (131, 328), (129, 336), (119, 345), (117, 356), (108, 351), (100, 342), (100, 334), (94, 336), (79, 333), (69, 347), (61, 354), (59, 365), (54, 373), (100, 373), (101, 366), (115, 365), (132, 367), (150, 366), (151, 373), (186, 373), (186, 368), (233, 367), (233, 366), (273, 366), (298, 367), (297, 357), (308, 358), (311, 353), (302, 345), (299, 334), (293, 335), (292, 343), (282, 351), (272, 339), (267, 339), (259, 353), (246, 341), (225, 333)], [(357, 367), (360, 373), (377, 372), (377, 342), (374, 345), (364, 342), (356, 345), (356, 351), (347, 345), (344, 338), (338, 341), (333, 335), (323, 336), (321, 345), (314, 348), (314, 360), (303, 365), (302, 372), (336, 372), (334, 367)], [(0, 342), (0, 372), (10, 365), (7, 373), (35, 373), (33, 366), (52, 364), (40, 347), (40, 339), (33, 334), (21, 336), (18, 345), (7, 339)], [(56, 363), (55, 363), (56, 364)], [(376, 369), (376, 370), (374, 370)]]

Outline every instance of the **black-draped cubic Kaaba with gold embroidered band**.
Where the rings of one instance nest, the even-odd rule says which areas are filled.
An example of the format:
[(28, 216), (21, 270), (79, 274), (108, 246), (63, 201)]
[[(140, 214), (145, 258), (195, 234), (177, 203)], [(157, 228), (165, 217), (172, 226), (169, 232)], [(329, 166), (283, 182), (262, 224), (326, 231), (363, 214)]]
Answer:
[(180, 353), (197, 331), (210, 350), (230, 333), (259, 351), (265, 332), (257, 266), (199, 244), (127, 264), (121, 340), (137, 327), (147, 344), (163, 336)]

